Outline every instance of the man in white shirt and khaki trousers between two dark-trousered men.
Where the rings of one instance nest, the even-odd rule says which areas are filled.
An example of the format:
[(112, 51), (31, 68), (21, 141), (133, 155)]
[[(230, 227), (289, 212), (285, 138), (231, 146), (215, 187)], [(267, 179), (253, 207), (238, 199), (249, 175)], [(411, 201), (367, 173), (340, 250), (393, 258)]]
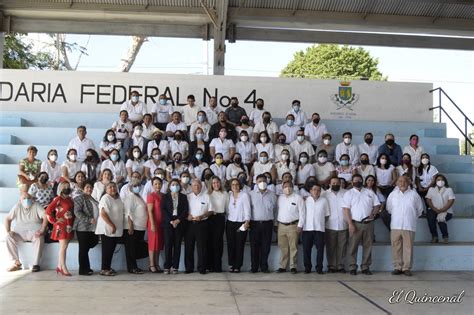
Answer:
[(300, 195), (293, 192), (292, 182), (283, 183), (283, 195), (278, 197), (277, 209), (278, 247), (281, 253), (280, 268), (277, 272), (286, 272), (289, 260), (290, 271), (296, 274), (298, 236), (302, 231), (298, 227), (298, 222), (304, 221), (304, 200)]

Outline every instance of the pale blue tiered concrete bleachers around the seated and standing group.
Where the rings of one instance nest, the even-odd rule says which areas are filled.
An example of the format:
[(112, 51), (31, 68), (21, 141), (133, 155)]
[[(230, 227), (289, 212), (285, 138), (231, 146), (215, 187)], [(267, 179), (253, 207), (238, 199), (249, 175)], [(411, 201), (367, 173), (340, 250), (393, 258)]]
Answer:
[[(59, 163), (66, 156), (69, 140), (76, 135), (78, 125), (86, 125), (88, 137), (98, 148), (106, 129), (118, 117), (117, 113), (47, 113), (47, 112), (3, 112), (0, 117), (0, 220), (18, 200), (15, 186), (18, 160), (26, 156), (29, 145), (35, 145), (38, 158), (44, 160), (49, 149), (58, 150)], [(275, 119), (278, 124), (283, 120)], [(342, 140), (344, 131), (351, 131), (353, 142), (361, 143), (365, 132), (374, 134), (374, 143), (383, 143), (387, 132), (395, 134), (396, 142), (402, 147), (408, 143), (411, 134), (418, 134), (420, 144), (431, 155), (432, 164), (448, 178), (456, 194), (454, 218), (448, 222), (449, 244), (430, 244), (426, 219), (419, 219), (415, 238), (415, 270), (474, 270), (474, 165), (471, 156), (459, 155), (458, 139), (446, 137), (446, 125), (416, 122), (369, 122), (354, 120), (326, 120), (324, 122), (333, 136), (333, 143)], [(390, 236), (378, 220), (376, 222), (376, 246), (372, 255), (374, 270), (391, 270)], [(4, 230), (0, 233), (3, 239)], [(31, 244), (24, 244), (22, 248)], [(246, 249), (244, 268), (249, 267), (250, 255)], [(122, 250), (123, 251), (123, 250)], [(2, 257), (7, 257), (4, 243), (0, 244)], [(77, 269), (77, 243), (70, 245), (68, 265)], [(301, 254), (301, 253), (300, 253)], [(279, 251), (272, 247), (271, 265), (277, 266)], [(31, 258), (29, 254), (25, 256)], [(299, 262), (302, 263), (302, 257)], [(54, 268), (57, 259), (57, 244), (48, 244), (43, 255), (43, 266)], [(226, 261), (224, 255), (224, 262)], [(100, 266), (100, 245), (93, 250), (93, 268)], [(2, 259), (0, 266), (3, 266)], [(124, 269), (124, 255), (114, 257), (114, 266)], [(225, 264), (224, 264), (225, 266)]]

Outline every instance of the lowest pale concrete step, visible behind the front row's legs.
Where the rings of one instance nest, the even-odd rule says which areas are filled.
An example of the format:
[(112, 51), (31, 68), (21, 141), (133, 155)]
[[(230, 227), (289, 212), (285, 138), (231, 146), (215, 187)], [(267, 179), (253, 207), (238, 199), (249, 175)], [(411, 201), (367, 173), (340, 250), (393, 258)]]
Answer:
[[(41, 267), (43, 269), (55, 269), (57, 264), (58, 243), (46, 244), (43, 250), (43, 257)], [(31, 268), (33, 260), (33, 246), (31, 243), (23, 243), (19, 246), (20, 260), (25, 268)], [(316, 250), (313, 250), (313, 259), (316, 260)], [(78, 270), (78, 244), (73, 241), (69, 244), (67, 250), (67, 266), (70, 270)], [(6, 250), (5, 242), (0, 242), (0, 255), (5, 259), (0, 260), (0, 268), (7, 268), (11, 262), (7, 259), (8, 252)], [(358, 261), (362, 257), (362, 248), (359, 248)], [(224, 246), (224, 254), (222, 256), (222, 267), (227, 270), (227, 248)], [(272, 244), (270, 256), (268, 259), (270, 270), (278, 269), (278, 262), (280, 258), (280, 250), (276, 244)], [(89, 259), (91, 268), (95, 271), (100, 270), (101, 265), (101, 244), (89, 251)], [(163, 251), (160, 253), (160, 265), (164, 261)], [(197, 261), (197, 258), (195, 259)], [(450, 244), (429, 244), (429, 243), (415, 243), (413, 254), (413, 270), (414, 271), (428, 271), (428, 270), (446, 270), (446, 271), (460, 271), (460, 270), (474, 270), (474, 243), (472, 242), (458, 242)], [(303, 250), (301, 245), (298, 247), (298, 270), (303, 268)], [(142, 269), (148, 268), (148, 259), (141, 259), (138, 261), (139, 267)], [(326, 269), (326, 257), (324, 257), (324, 269)], [(126, 270), (125, 264), (125, 248), (123, 245), (117, 245), (112, 260), (112, 268), (116, 270)], [(346, 267), (347, 269), (347, 267)], [(184, 271), (184, 245), (181, 250), (180, 270)], [(245, 245), (244, 265), (242, 271), (250, 270), (250, 245)], [(372, 265), (373, 271), (391, 271), (392, 264), (392, 249), (388, 243), (375, 243), (372, 248)], [(76, 272), (75, 272), (76, 273)]]

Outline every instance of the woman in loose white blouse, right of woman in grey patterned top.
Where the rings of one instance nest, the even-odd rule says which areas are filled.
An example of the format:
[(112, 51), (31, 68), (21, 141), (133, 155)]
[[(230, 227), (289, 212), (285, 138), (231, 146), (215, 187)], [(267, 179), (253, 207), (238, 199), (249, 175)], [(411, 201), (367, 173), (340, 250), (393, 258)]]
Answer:
[(117, 272), (111, 268), (117, 240), (123, 234), (124, 205), (114, 182), (107, 184), (106, 194), (99, 202), (99, 218), (95, 234), (100, 235), (102, 245), (101, 276), (115, 276)]

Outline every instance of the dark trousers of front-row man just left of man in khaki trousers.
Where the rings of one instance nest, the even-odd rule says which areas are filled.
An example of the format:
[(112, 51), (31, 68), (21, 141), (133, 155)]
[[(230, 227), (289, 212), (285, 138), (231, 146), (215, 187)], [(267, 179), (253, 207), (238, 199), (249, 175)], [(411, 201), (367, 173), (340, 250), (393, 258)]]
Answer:
[(252, 271), (268, 270), (268, 255), (272, 245), (273, 220), (250, 221), (250, 256)]

